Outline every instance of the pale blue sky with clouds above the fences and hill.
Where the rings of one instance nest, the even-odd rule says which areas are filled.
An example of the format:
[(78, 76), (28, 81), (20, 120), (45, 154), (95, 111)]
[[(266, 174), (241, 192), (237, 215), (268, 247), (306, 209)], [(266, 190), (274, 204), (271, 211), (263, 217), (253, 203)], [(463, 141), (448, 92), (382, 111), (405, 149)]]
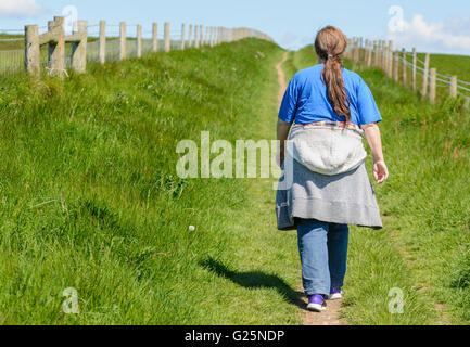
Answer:
[(332, 24), (347, 36), (392, 38), (407, 49), (470, 55), (468, 0), (0, 0), (0, 30), (46, 25), (67, 5), (76, 7), (78, 17), (90, 24), (103, 18), (148, 29), (152, 22), (170, 22), (175, 29), (181, 23), (247, 26), (290, 49), (312, 43), (316, 30)]

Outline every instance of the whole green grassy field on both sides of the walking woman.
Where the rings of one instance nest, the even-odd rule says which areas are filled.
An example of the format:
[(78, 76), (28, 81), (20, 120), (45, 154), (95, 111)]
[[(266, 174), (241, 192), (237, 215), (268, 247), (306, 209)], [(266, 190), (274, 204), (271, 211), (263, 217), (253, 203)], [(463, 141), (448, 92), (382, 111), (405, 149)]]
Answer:
[[(203, 130), (274, 139), (282, 54), (245, 39), (3, 79), (0, 323), (301, 324), (296, 237), (276, 230), (271, 181), (175, 170), (177, 143)], [(307, 47), (282, 67), (289, 79), (315, 63)], [(468, 111), (354, 68), (382, 112), (391, 178), (376, 187), (385, 228), (353, 228), (341, 314), (469, 324)], [(79, 314), (63, 312), (69, 287)], [(403, 313), (389, 311), (393, 288)]]

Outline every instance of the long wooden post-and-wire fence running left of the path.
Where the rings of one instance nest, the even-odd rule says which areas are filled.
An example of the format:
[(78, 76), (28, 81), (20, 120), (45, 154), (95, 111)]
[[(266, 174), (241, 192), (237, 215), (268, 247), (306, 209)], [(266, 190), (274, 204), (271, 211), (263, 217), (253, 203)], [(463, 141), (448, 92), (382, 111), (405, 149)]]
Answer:
[[(14, 33), (15, 37), (0, 37), (0, 75), (3, 76), (21, 70), (39, 76), (42, 69), (49, 75), (64, 76), (67, 68), (86, 72), (87, 62), (104, 64), (141, 57), (150, 52), (214, 47), (249, 37), (272, 41), (266, 34), (251, 28), (182, 24), (174, 29), (170, 23), (164, 23), (163, 30), (158, 30), (157, 23), (144, 28), (140, 24), (128, 25), (126, 22), (107, 25), (105, 21), (96, 25), (76, 21), (73, 31), (66, 35), (63, 16), (55, 16), (47, 27), (26, 25), (23, 37), (20, 30)], [(5, 44), (17, 48), (2, 50)]]

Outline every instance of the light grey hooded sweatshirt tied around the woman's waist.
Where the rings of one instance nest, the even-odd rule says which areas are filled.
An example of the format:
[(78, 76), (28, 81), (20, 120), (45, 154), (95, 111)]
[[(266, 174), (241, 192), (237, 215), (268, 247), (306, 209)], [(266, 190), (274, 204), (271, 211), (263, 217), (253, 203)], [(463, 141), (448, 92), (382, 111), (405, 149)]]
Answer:
[(280, 181), (292, 184), (277, 191), (279, 230), (296, 229), (297, 218), (382, 228), (361, 129), (331, 121), (294, 125), (289, 139), (292, 170), (283, 170)]

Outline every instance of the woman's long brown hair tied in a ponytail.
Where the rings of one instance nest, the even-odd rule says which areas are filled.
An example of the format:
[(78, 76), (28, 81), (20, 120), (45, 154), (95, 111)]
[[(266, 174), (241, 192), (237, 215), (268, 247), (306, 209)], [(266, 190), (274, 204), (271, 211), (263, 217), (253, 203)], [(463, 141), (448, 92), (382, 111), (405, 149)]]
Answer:
[(334, 26), (327, 26), (317, 34), (315, 51), (320, 60), (325, 61), (321, 79), (327, 85), (328, 99), (340, 116), (351, 119), (350, 98), (343, 82), (343, 61), (341, 54), (346, 49), (346, 37), (343, 31)]

